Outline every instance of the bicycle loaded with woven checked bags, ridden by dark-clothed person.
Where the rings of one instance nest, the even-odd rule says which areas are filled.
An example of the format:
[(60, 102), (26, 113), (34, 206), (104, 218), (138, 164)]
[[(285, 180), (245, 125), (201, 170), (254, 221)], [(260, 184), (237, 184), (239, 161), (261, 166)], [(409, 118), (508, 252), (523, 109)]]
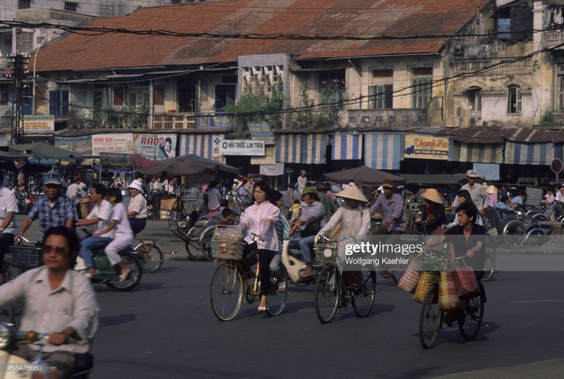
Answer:
[(479, 281), (478, 286), (479, 294), (460, 299), (457, 308), (445, 310), (439, 306), (439, 282), (436, 278), (431, 280), (419, 312), (419, 342), (424, 349), (434, 346), (443, 323), (448, 326), (458, 325), (460, 335), (465, 340), (474, 340), (484, 319), (484, 286)]

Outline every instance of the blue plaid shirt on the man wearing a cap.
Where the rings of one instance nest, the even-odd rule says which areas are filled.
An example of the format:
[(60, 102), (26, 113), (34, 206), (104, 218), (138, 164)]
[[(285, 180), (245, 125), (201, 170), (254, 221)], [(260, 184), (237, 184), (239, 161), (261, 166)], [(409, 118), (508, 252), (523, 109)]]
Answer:
[(37, 198), (33, 203), (27, 217), (32, 220), (39, 218), (39, 230), (44, 233), (53, 226), (65, 225), (66, 220), (78, 220), (75, 201), (70, 197), (60, 193), (55, 200), (54, 206), (49, 206), (49, 199), (46, 194)]

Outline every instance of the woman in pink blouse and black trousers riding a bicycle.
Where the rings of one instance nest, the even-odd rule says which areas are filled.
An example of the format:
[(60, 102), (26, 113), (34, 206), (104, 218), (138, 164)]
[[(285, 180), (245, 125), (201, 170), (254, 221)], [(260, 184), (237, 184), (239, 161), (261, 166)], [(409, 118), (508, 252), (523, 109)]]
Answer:
[(247, 235), (245, 242), (250, 245), (256, 244), (256, 250), (247, 255), (247, 262), (251, 266), (255, 265), (257, 263), (256, 254), (258, 254), (259, 265), (262, 267), (260, 271), (261, 297), (259, 313), (266, 311), (266, 297), (269, 294), (271, 275), (268, 267), (278, 254), (278, 237), (276, 237), (276, 230), (273, 224), (278, 220), (280, 209), (266, 199), (266, 194), (270, 191), (270, 185), (267, 182), (255, 183), (252, 190), (255, 204), (245, 209), (245, 213), (241, 216), (239, 223), (240, 229), (246, 230), (258, 237), (258, 240), (255, 242), (250, 235)]

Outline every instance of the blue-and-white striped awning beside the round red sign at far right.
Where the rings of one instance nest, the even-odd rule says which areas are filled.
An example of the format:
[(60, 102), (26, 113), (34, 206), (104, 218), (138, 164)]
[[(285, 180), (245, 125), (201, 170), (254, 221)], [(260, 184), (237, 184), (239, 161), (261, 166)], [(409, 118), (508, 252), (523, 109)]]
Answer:
[(507, 164), (548, 165), (554, 159), (552, 142), (505, 142), (505, 161)]

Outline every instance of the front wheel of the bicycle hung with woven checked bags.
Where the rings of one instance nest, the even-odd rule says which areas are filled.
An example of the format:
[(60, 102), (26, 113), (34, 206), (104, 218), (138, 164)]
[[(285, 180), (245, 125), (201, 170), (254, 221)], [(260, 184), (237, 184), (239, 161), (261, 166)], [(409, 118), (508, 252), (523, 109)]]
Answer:
[(419, 342), (425, 349), (433, 347), (441, 329), (443, 311), (439, 309), (439, 285), (431, 285), (419, 313)]

